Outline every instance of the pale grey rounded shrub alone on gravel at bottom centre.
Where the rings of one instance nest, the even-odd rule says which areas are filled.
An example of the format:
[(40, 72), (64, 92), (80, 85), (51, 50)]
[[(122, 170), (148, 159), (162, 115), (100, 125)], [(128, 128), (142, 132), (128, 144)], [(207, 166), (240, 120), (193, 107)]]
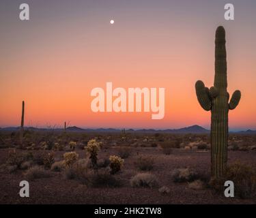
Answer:
[(156, 176), (148, 172), (139, 173), (130, 179), (132, 187), (157, 187), (158, 181)]

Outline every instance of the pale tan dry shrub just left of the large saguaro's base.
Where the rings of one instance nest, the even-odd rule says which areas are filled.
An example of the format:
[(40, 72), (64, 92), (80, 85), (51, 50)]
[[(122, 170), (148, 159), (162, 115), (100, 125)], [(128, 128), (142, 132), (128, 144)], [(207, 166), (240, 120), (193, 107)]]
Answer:
[(171, 172), (171, 177), (175, 183), (184, 183), (197, 179), (197, 174), (189, 168), (180, 168), (173, 170), (173, 172)]

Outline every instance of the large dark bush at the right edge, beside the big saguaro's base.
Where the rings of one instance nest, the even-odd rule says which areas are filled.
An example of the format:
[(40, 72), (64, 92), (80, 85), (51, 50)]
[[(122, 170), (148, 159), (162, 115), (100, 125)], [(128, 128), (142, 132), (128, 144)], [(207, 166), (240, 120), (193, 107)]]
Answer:
[(253, 166), (236, 162), (228, 166), (221, 178), (213, 178), (210, 186), (218, 192), (223, 192), (225, 181), (233, 181), (235, 196), (240, 198), (252, 198), (256, 192), (256, 171)]

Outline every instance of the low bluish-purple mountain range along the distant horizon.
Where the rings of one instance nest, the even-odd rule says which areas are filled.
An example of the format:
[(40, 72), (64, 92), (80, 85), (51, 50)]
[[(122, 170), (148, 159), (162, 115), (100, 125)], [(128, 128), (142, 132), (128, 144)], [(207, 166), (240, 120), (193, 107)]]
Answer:
[[(0, 128), (1, 131), (18, 131), (20, 127), (4, 127)], [(25, 129), (33, 130), (33, 131), (48, 131), (49, 129), (46, 128), (35, 128), (35, 127), (25, 127)], [(63, 129), (56, 128), (55, 131), (63, 131)], [(112, 132), (112, 133), (118, 133), (121, 131), (121, 129), (113, 129), (113, 128), (99, 128), (99, 129), (82, 129), (80, 127), (68, 127), (66, 128), (66, 131), (83, 131), (83, 132)], [(184, 127), (181, 129), (126, 129), (127, 133), (167, 133), (167, 134), (209, 134), (210, 130), (205, 129), (199, 125), (193, 125), (190, 127)], [(236, 133), (236, 134), (256, 134), (256, 130), (248, 129), (246, 131), (236, 131), (236, 132), (230, 132), (230, 133)]]

